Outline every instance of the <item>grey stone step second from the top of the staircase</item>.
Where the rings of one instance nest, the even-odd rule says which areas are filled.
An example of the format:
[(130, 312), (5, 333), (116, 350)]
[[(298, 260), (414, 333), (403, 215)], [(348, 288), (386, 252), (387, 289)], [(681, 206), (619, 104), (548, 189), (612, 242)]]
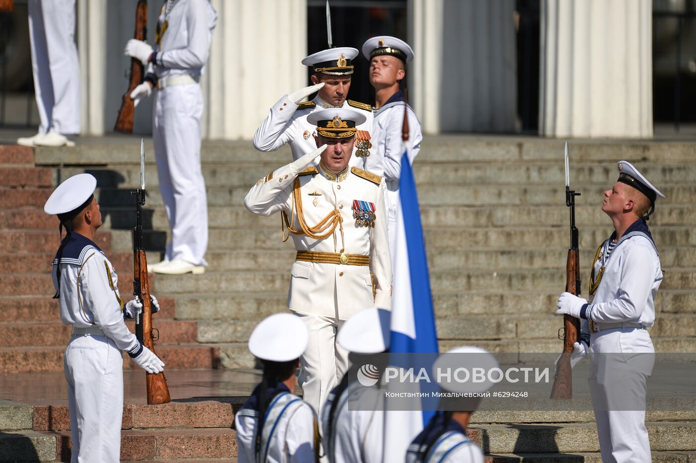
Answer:
[[(251, 188), (260, 177), (280, 168), (289, 159), (278, 156), (275, 160), (259, 161), (258, 163), (206, 163), (203, 160), (201, 170), (207, 186), (244, 186)], [(565, 183), (565, 169), (562, 159), (555, 163), (549, 162), (508, 162), (496, 164), (490, 162), (477, 163), (434, 163), (427, 156), (416, 158), (414, 163), (416, 182), (418, 184), (560, 184)], [(640, 165), (640, 170), (647, 178), (656, 184), (688, 183), (696, 181), (696, 164), (677, 163), (659, 165)], [(53, 184), (59, 179), (66, 179), (75, 174), (88, 172), (97, 179), (97, 185), (102, 187), (138, 188), (140, 185), (140, 165), (122, 164), (113, 166), (68, 166), (54, 168)], [(573, 184), (606, 184), (611, 185), (617, 179), (614, 163), (579, 163), (571, 168)], [(158, 184), (157, 166), (154, 163), (145, 165), (145, 180), (149, 185)]]

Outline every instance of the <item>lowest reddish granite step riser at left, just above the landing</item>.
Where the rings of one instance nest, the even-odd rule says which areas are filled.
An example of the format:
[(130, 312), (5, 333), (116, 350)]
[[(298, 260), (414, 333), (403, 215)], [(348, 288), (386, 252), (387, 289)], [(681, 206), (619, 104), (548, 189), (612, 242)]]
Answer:
[[(219, 346), (198, 343), (156, 343), (155, 351), (171, 369), (219, 368)], [(63, 371), (65, 346), (0, 348), (0, 371), (26, 373), (38, 371)], [(124, 354), (123, 368), (138, 368)]]

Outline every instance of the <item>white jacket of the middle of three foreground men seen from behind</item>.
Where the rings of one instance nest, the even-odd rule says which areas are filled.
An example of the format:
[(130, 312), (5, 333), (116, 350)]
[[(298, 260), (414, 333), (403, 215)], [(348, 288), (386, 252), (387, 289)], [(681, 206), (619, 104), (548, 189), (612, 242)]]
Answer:
[[(384, 400), (378, 387), (352, 382), (338, 400), (333, 420), (335, 391), (326, 398), (322, 412), (324, 451), (330, 463), (381, 463), (384, 445)], [(361, 409), (351, 409), (360, 404)]]

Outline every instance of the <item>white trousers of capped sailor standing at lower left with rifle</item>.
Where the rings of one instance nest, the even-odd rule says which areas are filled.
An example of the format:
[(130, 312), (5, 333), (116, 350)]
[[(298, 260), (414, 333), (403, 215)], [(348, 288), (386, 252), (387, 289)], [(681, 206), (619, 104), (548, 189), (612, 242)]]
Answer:
[(123, 357), (106, 336), (73, 336), (63, 360), (68, 380), (72, 463), (120, 461)]

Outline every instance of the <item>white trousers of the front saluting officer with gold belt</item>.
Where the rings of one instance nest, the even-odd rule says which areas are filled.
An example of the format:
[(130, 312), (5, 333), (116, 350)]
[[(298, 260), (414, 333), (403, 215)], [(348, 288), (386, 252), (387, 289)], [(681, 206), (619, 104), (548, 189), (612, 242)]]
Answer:
[(322, 416), (322, 409), (331, 390), (338, 386), (348, 370), (348, 351), (336, 343), (342, 324), (338, 318), (293, 312), (302, 318), (309, 330), (309, 342), (300, 357), (298, 382), (303, 400)]

